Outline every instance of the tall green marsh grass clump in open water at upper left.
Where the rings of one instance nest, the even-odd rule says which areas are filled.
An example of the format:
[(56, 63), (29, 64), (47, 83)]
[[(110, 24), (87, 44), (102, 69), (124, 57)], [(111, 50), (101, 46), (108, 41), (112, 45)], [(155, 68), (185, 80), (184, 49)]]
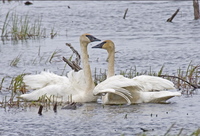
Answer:
[(18, 15), (11, 11), (6, 14), (1, 28), (2, 40), (18, 41), (41, 37), (46, 37), (46, 29), (42, 27), (42, 17), (32, 20), (28, 14)]

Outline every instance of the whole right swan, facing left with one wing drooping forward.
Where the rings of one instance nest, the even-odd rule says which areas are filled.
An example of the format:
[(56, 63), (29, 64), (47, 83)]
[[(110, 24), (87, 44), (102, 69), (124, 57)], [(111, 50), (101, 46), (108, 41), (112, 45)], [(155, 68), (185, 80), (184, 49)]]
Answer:
[[(141, 75), (129, 79), (114, 75), (115, 45), (111, 40), (103, 41), (92, 48), (101, 48), (108, 52), (107, 79), (93, 90), (94, 95), (105, 94), (102, 96), (103, 104), (158, 103), (181, 95), (180, 92), (167, 91), (175, 89), (174, 84), (160, 77)], [(116, 92), (123, 93), (126, 97), (122, 98)]]

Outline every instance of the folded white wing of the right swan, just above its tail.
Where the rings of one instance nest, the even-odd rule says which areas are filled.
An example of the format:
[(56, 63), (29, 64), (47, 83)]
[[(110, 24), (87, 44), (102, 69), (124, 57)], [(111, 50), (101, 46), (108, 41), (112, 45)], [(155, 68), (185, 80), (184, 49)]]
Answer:
[(134, 77), (133, 81), (140, 84), (142, 90), (147, 92), (176, 89), (171, 81), (156, 76), (141, 75)]

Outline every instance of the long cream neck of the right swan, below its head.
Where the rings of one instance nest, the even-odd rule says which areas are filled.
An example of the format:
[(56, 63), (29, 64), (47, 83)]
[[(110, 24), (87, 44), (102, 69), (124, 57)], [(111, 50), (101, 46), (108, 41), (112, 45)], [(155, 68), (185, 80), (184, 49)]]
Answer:
[(108, 73), (107, 78), (115, 75), (115, 50), (108, 51)]

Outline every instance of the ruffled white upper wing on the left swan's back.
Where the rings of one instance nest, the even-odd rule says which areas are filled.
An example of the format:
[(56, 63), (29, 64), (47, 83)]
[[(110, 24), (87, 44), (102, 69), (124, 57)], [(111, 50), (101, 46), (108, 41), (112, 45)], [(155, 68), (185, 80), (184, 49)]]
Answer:
[(59, 76), (51, 72), (42, 71), (36, 75), (25, 75), (23, 82), (27, 89), (40, 89), (47, 85), (65, 82), (67, 77)]

